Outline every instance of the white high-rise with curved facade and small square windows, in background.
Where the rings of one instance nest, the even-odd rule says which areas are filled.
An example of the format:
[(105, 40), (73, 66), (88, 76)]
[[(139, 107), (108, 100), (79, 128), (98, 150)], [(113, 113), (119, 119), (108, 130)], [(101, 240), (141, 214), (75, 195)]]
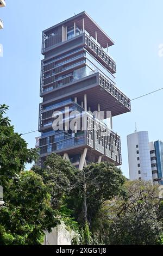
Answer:
[(151, 180), (152, 167), (148, 132), (134, 132), (127, 136), (130, 180)]

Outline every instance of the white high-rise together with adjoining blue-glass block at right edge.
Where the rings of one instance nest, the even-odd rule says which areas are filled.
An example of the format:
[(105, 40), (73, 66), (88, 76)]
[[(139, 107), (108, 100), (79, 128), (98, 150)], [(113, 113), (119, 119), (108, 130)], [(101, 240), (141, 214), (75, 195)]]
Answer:
[(163, 142), (150, 142), (148, 132), (134, 132), (127, 136), (130, 180), (163, 180)]

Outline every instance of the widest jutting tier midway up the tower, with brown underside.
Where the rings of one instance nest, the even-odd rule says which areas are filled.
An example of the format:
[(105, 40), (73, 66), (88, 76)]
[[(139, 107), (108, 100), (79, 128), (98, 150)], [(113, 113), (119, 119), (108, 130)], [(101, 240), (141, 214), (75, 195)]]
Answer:
[(53, 89), (50, 94), (44, 95), (41, 105), (68, 97), (77, 97), (78, 101), (82, 102), (84, 100), (83, 92), (87, 95), (87, 102), (89, 102), (92, 112), (97, 110), (95, 99), (98, 99), (101, 111), (111, 111), (112, 116), (131, 111), (130, 99), (115, 86), (111, 79), (106, 78), (100, 72)]

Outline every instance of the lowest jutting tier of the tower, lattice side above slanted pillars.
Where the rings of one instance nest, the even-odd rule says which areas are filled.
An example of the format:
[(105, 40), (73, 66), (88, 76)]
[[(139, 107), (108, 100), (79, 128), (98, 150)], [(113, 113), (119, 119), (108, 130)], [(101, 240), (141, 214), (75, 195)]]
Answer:
[[(45, 157), (52, 152), (64, 155), (82, 154), (84, 148), (88, 156), (92, 154), (95, 161), (99, 154), (103, 161), (110, 161), (116, 165), (121, 164), (121, 139), (116, 132), (109, 129), (104, 123), (86, 113), (86, 130), (68, 134), (65, 131), (51, 130), (48, 137), (40, 138), (40, 157)], [(47, 141), (48, 139), (48, 141)]]

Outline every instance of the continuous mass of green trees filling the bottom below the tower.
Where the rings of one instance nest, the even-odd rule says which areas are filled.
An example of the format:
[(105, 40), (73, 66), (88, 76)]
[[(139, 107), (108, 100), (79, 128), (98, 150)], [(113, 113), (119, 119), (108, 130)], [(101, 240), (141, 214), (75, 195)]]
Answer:
[(45, 230), (60, 223), (74, 244), (162, 244), (158, 185), (128, 181), (107, 162), (79, 171), (57, 154), (48, 156), (43, 168), (24, 171), (38, 152), (15, 133), (4, 117), (7, 109), (0, 105), (0, 245), (39, 245)]

